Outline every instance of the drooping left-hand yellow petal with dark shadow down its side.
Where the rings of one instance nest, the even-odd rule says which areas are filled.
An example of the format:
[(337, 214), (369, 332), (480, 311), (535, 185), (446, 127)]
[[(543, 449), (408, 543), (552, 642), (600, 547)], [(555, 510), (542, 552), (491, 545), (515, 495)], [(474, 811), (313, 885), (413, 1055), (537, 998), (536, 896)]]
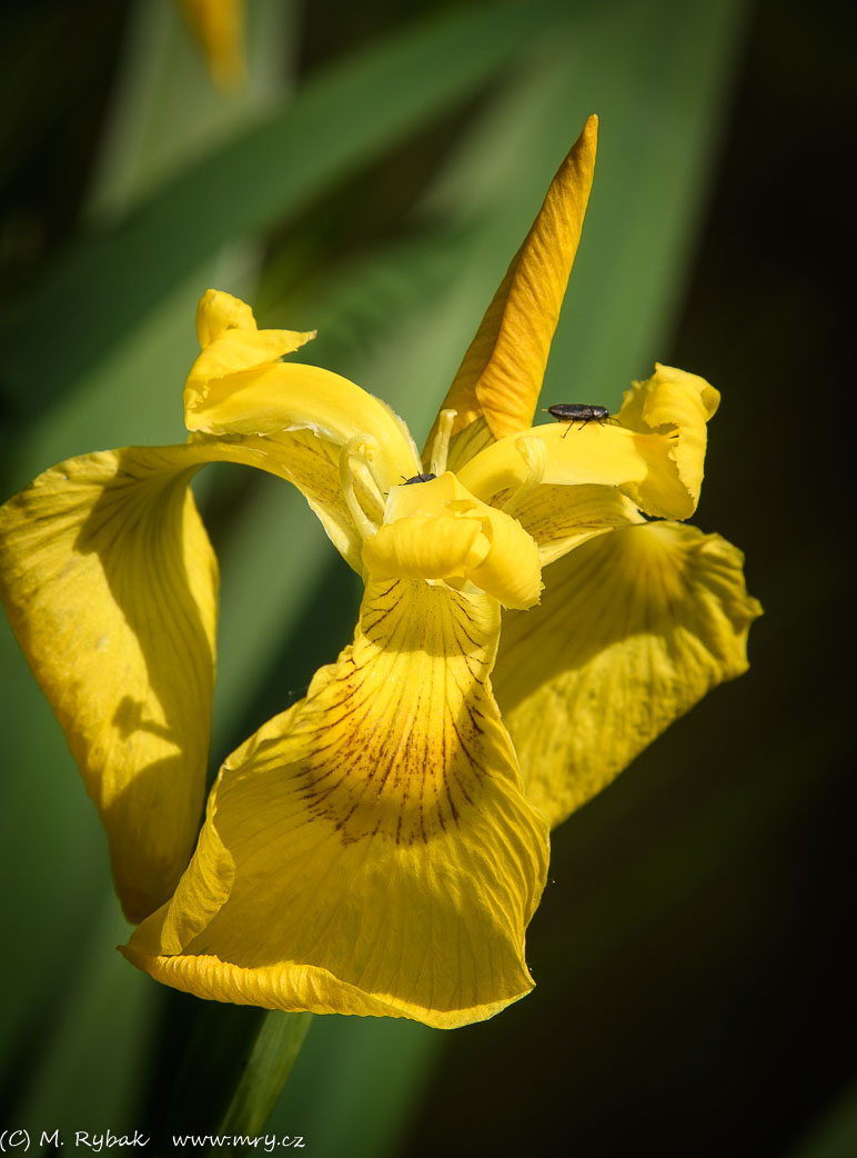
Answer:
[(140, 919), (176, 886), (202, 807), (217, 570), (190, 447), (88, 455), (0, 508), (0, 591)]

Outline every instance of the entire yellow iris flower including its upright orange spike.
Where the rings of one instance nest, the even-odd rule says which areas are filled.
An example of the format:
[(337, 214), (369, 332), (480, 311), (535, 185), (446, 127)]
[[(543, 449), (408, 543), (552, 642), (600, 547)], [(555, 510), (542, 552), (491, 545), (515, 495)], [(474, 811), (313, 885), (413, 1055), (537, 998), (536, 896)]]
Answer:
[[(73, 459), (0, 512), (10, 618), (142, 919), (123, 952), (158, 981), (444, 1028), (496, 1013), (533, 984), (551, 827), (745, 670), (740, 552), (674, 521), (717, 391), (658, 366), (609, 423), (532, 426), (594, 152), (591, 118), (426, 457), (383, 402), (280, 360), (311, 334), (209, 291), (189, 441)], [(365, 592), (354, 642), (227, 760), (194, 852), (217, 571), (189, 483), (213, 461), (297, 486)]]

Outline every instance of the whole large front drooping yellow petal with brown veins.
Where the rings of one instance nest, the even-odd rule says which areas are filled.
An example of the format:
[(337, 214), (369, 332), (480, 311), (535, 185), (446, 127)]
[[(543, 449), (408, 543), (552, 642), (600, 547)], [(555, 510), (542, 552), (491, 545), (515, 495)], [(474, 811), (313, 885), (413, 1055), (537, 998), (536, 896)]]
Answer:
[(526, 994), (547, 827), (490, 691), (498, 616), (370, 582), (354, 644), (224, 765), (130, 960), (200, 997), (442, 1028)]

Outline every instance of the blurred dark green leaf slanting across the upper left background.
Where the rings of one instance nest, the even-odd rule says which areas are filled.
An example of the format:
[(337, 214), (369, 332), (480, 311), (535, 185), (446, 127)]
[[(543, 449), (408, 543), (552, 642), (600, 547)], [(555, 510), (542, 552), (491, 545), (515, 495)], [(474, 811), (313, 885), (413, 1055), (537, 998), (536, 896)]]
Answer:
[(564, 10), (557, 0), (537, 0), (424, 21), (330, 69), (120, 225), (82, 239), (7, 335), (5, 396), (13, 415), (37, 413), (120, 347), (221, 245), (272, 226), (472, 93), (522, 39)]

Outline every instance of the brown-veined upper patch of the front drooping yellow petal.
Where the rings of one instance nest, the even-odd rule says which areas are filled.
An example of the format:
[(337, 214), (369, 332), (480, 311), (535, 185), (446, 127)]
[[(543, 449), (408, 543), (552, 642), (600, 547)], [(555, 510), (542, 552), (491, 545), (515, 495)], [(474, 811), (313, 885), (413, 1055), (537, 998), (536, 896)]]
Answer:
[(514, 765), (486, 687), (497, 625), (488, 596), (416, 580), (367, 593), (293, 732), (298, 794), (345, 844), (428, 843), (479, 809), (489, 764)]

